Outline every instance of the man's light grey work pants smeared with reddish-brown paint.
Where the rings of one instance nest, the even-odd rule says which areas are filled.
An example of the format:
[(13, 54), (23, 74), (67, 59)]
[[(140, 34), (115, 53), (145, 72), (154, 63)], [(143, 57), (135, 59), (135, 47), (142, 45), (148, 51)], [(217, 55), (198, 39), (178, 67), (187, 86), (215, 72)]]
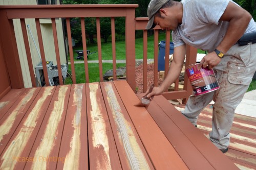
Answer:
[(193, 125), (197, 125), (198, 115), (213, 100), (210, 140), (219, 149), (226, 149), (234, 111), (242, 101), (256, 70), (256, 43), (233, 45), (214, 70), (220, 88), (199, 96), (191, 95), (182, 114)]

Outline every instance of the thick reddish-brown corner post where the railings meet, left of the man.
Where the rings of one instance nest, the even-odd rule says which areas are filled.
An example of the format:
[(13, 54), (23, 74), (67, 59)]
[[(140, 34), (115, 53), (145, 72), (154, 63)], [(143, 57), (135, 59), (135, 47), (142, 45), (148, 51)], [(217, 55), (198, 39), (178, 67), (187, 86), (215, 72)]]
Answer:
[(125, 47), (126, 47), (126, 81), (135, 91), (135, 9), (126, 9)]

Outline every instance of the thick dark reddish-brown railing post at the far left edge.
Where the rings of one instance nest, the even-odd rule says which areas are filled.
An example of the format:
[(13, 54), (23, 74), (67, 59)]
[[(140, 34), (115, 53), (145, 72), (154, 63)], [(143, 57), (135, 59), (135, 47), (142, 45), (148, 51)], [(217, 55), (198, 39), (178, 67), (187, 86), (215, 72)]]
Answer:
[[(0, 11), (0, 38), (10, 84), (12, 89), (24, 88), (22, 68), (20, 66), (18, 47), (16, 43), (12, 19), (8, 19), (6, 10)], [(1, 61), (2, 62), (2, 61)]]

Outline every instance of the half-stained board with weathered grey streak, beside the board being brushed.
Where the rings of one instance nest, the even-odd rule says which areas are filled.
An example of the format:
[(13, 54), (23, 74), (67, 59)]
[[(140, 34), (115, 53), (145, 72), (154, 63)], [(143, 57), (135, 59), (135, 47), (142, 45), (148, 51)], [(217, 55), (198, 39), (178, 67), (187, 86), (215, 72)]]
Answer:
[(113, 83), (102, 82), (100, 85), (122, 168), (154, 169)]

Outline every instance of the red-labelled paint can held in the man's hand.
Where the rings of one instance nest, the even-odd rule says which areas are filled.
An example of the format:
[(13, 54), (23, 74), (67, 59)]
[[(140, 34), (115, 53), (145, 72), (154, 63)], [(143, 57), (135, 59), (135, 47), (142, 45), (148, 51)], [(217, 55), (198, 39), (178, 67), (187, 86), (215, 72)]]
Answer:
[(220, 86), (214, 70), (208, 69), (208, 67), (202, 67), (198, 70), (199, 65), (202, 65), (202, 63), (191, 64), (185, 68), (194, 95), (201, 95), (219, 89)]

